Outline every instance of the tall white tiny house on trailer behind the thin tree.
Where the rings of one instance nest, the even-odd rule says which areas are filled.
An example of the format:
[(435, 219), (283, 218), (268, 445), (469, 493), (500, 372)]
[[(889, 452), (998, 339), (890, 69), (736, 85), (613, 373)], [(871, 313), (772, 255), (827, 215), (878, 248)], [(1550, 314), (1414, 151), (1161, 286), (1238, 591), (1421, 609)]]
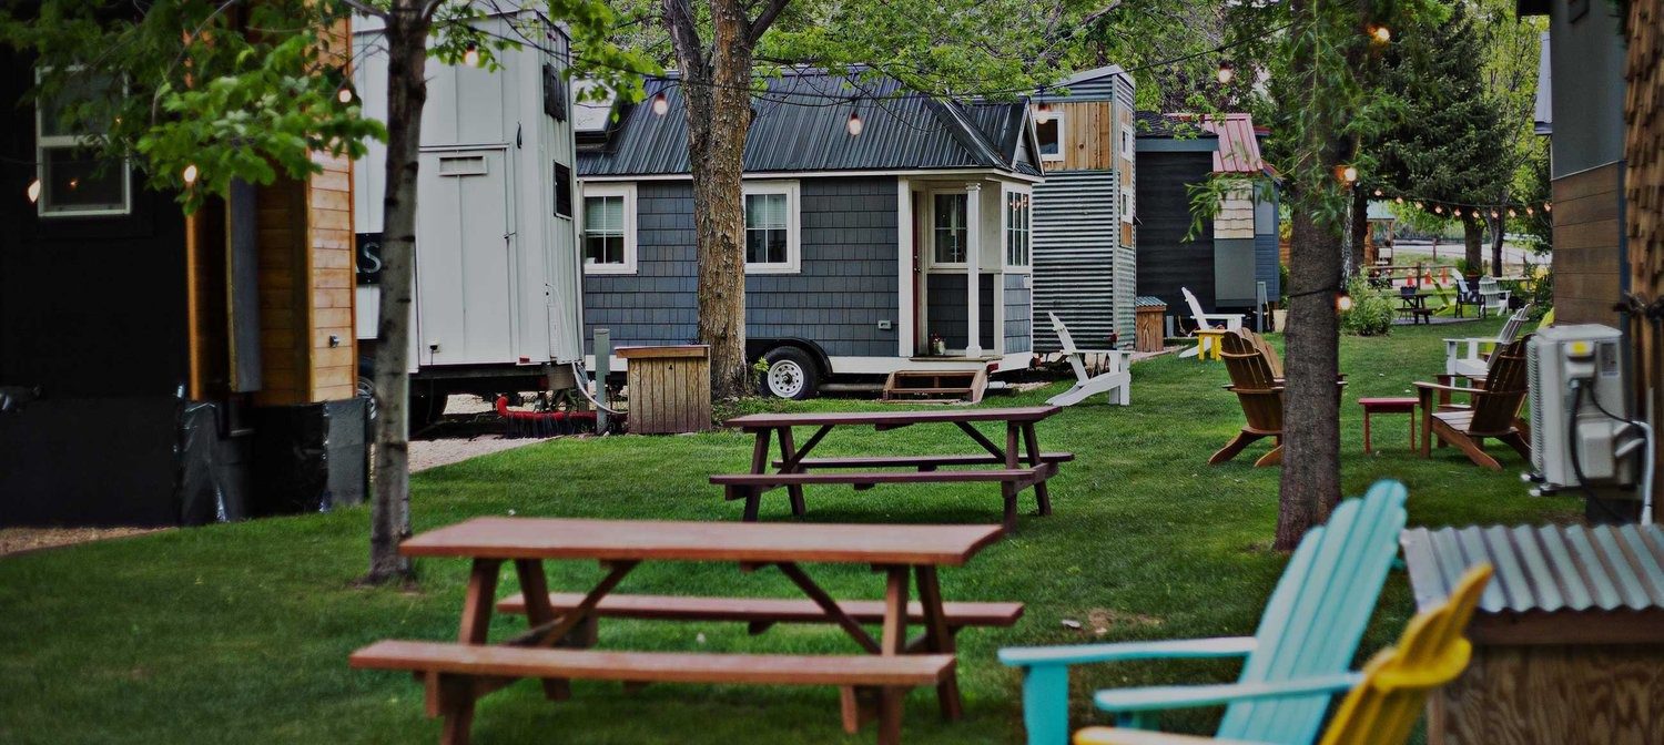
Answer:
[[(581, 361), (569, 38), (529, 10), (478, 23), (493, 37), (534, 38), (498, 52), (498, 70), (428, 60), (409, 351), (416, 417), (438, 416), (449, 392), (567, 387)], [(354, 81), (366, 113), (386, 118), (388, 58), (368, 53), (381, 33), (379, 20), (359, 20)], [(384, 173), (386, 146), (371, 143), (353, 170), (364, 349), (379, 321)]]

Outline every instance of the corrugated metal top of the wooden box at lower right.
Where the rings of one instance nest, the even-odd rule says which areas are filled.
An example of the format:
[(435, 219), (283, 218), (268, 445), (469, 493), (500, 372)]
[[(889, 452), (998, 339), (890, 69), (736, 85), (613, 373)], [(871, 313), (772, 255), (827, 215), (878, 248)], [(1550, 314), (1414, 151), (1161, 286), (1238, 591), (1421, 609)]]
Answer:
[(1449, 595), (1468, 567), (1491, 562), (1486, 614), (1664, 609), (1659, 525), (1418, 527), (1401, 544), (1419, 607)]

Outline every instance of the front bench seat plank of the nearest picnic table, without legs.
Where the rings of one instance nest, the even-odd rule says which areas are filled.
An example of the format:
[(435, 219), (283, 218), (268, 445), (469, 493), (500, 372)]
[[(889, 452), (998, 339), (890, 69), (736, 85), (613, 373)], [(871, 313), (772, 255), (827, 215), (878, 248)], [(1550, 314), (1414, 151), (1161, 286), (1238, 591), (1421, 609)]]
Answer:
[(383, 640), (348, 659), (354, 669), (637, 683), (935, 685), (953, 655), (744, 655), (609, 652)]

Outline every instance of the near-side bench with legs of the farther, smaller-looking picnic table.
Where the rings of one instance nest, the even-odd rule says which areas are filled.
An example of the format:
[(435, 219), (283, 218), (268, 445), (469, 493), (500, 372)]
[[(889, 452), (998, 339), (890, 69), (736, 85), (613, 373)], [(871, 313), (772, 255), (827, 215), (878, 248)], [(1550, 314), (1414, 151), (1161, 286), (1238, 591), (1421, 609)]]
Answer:
[[(990, 456), (992, 457), (992, 456)], [(1057, 462), (1042, 462), (1023, 469), (992, 471), (862, 471), (862, 472), (790, 472), (790, 474), (716, 474), (712, 484), (721, 486), (724, 499), (745, 501), (745, 522), (757, 521), (757, 509), (762, 506), (762, 494), (780, 487), (804, 487), (815, 484), (849, 484), (855, 491), (872, 489), (877, 484), (957, 484), (957, 482), (998, 482), (1005, 501), (1005, 527), (1017, 527), (1017, 492), (1045, 484), (1057, 476)], [(1052, 514), (1050, 499), (1037, 496), (1040, 514)], [(799, 494), (792, 494), (792, 516), (802, 516), (804, 504)]]

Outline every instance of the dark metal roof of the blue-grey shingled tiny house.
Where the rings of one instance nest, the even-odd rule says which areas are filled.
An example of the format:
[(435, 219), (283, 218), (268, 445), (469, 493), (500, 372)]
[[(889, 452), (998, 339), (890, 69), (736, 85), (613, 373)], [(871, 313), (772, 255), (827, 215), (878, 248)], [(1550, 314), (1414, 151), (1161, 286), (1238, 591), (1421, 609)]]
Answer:
[[(767, 80), (752, 103), (745, 173), (992, 168), (1040, 175), (1017, 161), (1017, 143), (1030, 128), (1025, 100), (943, 101), (905, 91), (890, 78), (854, 80), (819, 70)], [(679, 80), (674, 73), (649, 78), (646, 88), (644, 103), (626, 106), (611, 136), (581, 146), (579, 176), (689, 171)], [(664, 116), (647, 103), (657, 93), (669, 103)], [(859, 136), (849, 135), (850, 111), (860, 113)]]

